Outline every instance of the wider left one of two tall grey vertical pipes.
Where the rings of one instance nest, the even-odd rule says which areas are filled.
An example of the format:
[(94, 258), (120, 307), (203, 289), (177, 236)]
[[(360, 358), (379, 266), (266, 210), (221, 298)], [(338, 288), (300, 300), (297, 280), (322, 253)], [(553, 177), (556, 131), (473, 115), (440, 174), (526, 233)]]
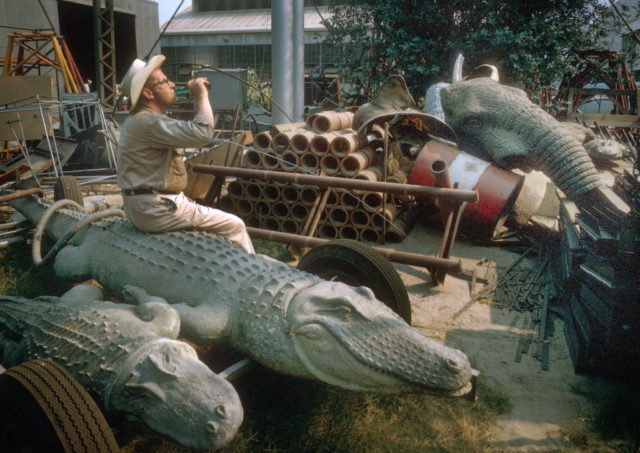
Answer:
[(274, 124), (289, 123), (293, 113), (292, 54), (293, 5), (289, 0), (271, 2), (271, 80), (273, 98), (282, 106), (271, 112)]

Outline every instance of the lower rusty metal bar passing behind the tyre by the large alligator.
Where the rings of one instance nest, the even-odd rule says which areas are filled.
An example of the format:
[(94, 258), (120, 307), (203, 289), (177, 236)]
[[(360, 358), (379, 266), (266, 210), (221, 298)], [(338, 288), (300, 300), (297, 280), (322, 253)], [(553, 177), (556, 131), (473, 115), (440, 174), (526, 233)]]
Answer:
[[(252, 238), (266, 241), (283, 242), (295, 244), (300, 248), (311, 248), (328, 242), (330, 239), (300, 236), (298, 234), (281, 233), (278, 231), (263, 230), (260, 228), (247, 227), (247, 231)], [(455, 258), (438, 258), (435, 256), (421, 255), (419, 253), (398, 252), (396, 250), (381, 247), (372, 247), (393, 263), (408, 264), (410, 266), (429, 267), (441, 269), (447, 273), (459, 274), (462, 272), (462, 261)]]

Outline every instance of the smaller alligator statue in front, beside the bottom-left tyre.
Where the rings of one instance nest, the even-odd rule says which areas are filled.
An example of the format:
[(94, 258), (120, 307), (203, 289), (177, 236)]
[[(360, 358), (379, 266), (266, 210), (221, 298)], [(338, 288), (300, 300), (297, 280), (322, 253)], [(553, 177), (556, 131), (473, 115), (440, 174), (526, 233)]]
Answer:
[(162, 302), (101, 299), (101, 290), (88, 285), (60, 298), (0, 296), (1, 363), (53, 359), (110, 418), (140, 423), (192, 448), (217, 449), (230, 441), (242, 423), (238, 394), (191, 346), (174, 339), (178, 313)]

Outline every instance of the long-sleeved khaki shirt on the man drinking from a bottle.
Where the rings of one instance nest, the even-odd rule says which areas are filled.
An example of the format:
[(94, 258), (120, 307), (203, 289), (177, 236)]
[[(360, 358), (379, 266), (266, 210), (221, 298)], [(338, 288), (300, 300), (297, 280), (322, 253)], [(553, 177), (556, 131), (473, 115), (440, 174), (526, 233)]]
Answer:
[(214, 129), (202, 115), (191, 121), (169, 118), (141, 109), (122, 126), (118, 142), (118, 186), (181, 192), (187, 187), (187, 171), (180, 147), (204, 146)]

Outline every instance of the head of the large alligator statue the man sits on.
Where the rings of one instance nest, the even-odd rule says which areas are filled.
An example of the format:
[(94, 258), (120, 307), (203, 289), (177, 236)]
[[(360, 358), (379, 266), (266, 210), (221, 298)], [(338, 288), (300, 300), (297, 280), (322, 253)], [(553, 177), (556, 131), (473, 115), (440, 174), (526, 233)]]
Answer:
[(298, 358), (333, 385), (456, 393), (471, 379), (461, 351), (420, 335), (366, 287), (313, 285), (291, 301), (287, 322)]

